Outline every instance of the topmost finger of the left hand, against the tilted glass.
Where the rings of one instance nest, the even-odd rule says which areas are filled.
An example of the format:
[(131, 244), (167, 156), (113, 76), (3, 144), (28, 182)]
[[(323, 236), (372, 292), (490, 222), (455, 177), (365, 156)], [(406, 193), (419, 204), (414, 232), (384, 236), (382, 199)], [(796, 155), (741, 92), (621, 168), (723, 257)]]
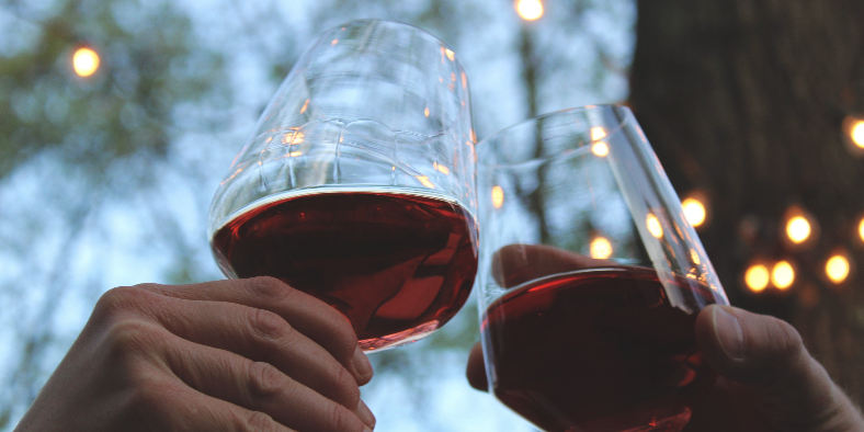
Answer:
[(214, 281), (190, 285), (141, 285), (166, 296), (187, 300), (236, 303), (270, 310), (327, 350), (364, 385), (373, 371), (366, 355), (357, 345), (351, 322), (326, 303), (294, 289), (273, 277)]

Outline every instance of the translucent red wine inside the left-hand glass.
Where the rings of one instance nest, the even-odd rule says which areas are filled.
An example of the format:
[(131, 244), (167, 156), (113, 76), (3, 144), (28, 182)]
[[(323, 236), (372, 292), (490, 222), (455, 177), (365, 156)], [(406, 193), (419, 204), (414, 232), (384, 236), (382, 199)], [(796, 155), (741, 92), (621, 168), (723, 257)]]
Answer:
[(431, 333), (465, 304), (477, 272), (474, 220), (429, 195), (329, 191), (252, 208), (212, 246), (230, 276), (274, 276), (320, 298), (374, 350)]

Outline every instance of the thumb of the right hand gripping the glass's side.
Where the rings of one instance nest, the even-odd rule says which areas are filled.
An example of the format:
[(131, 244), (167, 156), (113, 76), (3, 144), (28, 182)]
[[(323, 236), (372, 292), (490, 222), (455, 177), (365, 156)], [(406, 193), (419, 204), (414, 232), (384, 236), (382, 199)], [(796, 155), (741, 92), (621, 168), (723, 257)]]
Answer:
[(723, 377), (753, 389), (765, 419), (782, 431), (851, 431), (861, 413), (804, 348), (788, 322), (731, 306), (708, 306), (696, 341)]

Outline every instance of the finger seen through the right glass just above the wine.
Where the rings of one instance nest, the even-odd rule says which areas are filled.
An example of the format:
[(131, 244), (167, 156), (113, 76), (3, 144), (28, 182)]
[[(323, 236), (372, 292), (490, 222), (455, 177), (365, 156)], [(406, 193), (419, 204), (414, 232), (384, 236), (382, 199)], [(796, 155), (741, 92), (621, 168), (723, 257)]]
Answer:
[(492, 255), (492, 276), (511, 287), (550, 274), (617, 265), (544, 245), (508, 245)]

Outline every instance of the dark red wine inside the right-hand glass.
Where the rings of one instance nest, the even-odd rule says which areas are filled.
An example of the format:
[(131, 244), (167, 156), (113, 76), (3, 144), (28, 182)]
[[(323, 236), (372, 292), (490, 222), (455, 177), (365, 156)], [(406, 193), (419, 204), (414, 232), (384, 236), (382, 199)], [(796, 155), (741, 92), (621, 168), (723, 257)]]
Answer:
[(548, 432), (681, 431), (716, 377), (696, 348), (695, 319), (669, 304), (651, 269), (525, 283), (484, 317), (494, 394)]

